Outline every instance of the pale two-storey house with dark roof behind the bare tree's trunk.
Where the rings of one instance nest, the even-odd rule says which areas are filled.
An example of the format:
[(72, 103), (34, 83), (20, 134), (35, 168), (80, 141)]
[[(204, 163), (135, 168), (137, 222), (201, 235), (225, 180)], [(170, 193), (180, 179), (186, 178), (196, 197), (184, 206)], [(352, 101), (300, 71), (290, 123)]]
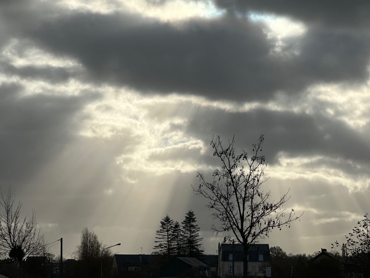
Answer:
[[(218, 276), (235, 277), (243, 276), (243, 245), (218, 244)], [(234, 269), (233, 269), (234, 262)], [(266, 276), (266, 267), (270, 266), (270, 247), (268, 244), (254, 244), (248, 250), (249, 276)]]

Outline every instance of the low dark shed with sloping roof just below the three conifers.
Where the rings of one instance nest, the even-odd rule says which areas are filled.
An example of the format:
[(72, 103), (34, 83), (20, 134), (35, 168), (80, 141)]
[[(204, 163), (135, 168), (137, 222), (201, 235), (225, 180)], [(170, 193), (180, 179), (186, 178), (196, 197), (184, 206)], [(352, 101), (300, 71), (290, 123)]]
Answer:
[(211, 277), (211, 268), (196, 258), (175, 257), (161, 266), (160, 278)]

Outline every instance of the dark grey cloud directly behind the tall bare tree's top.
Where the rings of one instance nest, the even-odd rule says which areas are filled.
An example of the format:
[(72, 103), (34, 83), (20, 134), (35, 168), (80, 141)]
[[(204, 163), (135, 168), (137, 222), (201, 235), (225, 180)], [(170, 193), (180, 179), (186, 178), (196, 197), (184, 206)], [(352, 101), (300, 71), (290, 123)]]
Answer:
[[(270, 164), (277, 162), (277, 153), (291, 157), (324, 156), (311, 166), (331, 166), (349, 175), (360, 175), (370, 169), (370, 148), (361, 133), (353, 132), (346, 123), (320, 115), (298, 114), (257, 109), (245, 113), (227, 113), (202, 109), (189, 120), (186, 132), (203, 142), (212, 134), (227, 142), (235, 134), (235, 146), (250, 151), (261, 133), (265, 134), (264, 152)], [(210, 153), (211, 154), (211, 153)], [(336, 159), (339, 159), (338, 161)], [(347, 160), (363, 167), (357, 168)]]

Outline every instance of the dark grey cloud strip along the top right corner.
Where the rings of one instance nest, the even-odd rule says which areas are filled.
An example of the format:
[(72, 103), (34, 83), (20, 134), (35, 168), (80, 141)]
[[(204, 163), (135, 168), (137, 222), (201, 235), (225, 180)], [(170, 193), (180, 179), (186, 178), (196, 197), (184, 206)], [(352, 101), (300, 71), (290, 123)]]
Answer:
[(370, 23), (370, 2), (366, 0), (214, 0), (214, 2), (223, 9), (275, 13), (334, 27), (368, 27)]

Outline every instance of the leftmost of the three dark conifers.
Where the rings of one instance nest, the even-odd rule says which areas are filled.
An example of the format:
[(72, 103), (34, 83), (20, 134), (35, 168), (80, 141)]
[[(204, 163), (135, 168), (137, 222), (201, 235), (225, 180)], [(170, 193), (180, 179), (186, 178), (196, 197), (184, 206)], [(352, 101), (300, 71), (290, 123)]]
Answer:
[(154, 241), (159, 244), (155, 245), (153, 249), (157, 249), (160, 254), (166, 255), (168, 259), (174, 251), (173, 229), (174, 221), (166, 214), (161, 221), (160, 229), (156, 232), (157, 236), (155, 238), (159, 240)]

